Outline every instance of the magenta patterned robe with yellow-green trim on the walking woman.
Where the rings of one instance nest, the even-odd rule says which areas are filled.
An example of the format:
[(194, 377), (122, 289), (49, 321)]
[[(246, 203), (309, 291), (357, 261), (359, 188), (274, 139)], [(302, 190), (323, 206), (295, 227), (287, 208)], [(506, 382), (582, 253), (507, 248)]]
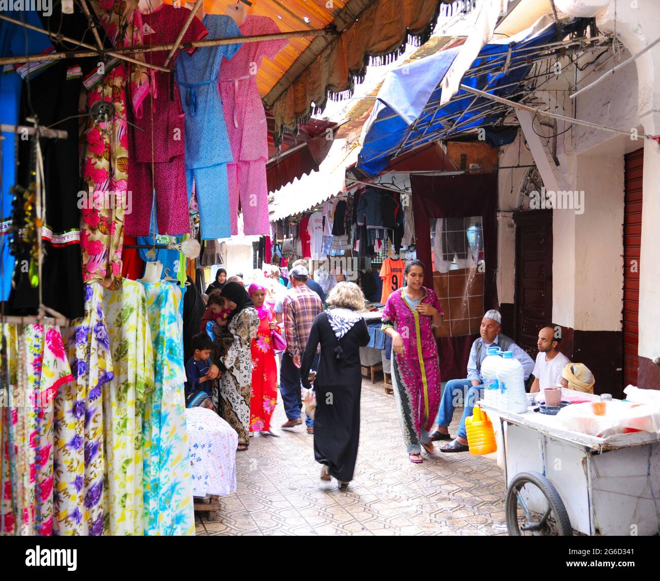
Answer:
[[(421, 303), (442, 312), (435, 292), (423, 290)], [(431, 321), (430, 316), (411, 308), (403, 289), (393, 292), (383, 309), (383, 329), (395, 327), (405, 347), (404, 353), (393, 353), (392, 381), (408, 452), (420, 450), (420, 441), (427, 437), (440, 405), (440, 366)]]

